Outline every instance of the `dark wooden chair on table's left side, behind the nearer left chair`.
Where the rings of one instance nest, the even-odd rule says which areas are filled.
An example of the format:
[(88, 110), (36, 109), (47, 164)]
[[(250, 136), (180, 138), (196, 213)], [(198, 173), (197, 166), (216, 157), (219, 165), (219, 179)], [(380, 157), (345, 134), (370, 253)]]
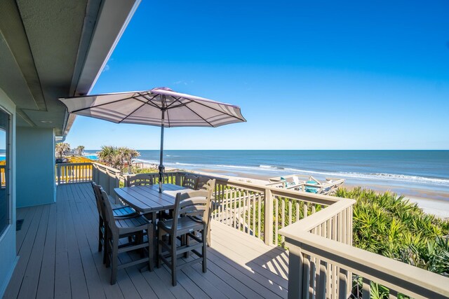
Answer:
[[(102, 251), (103, 248), (106, 249), (105, 239), (107, 239), (107, 230), (105, 230), (106, 226), (106, 214), (105, 209), (103, 208), (104, 204), (102, 204), (102, 195), (101, 195), (101, 186), (97, 185), (94, 181), (91, 182), (93, 188), (93, 194), (95, 195), (95, 203), (97, 205), (98, 210), (98, 252)], [(109, 199), (108, 199), (109, 202)], [(119, 207), (116, 209), (112, 209), (112, 214), (114, 214), (114, 218), (129, 218), (138, 216), (138, 212), (135, 209), (126, 206)], [(106, 263), (106, 250), (103, 253), (103, 263)]]

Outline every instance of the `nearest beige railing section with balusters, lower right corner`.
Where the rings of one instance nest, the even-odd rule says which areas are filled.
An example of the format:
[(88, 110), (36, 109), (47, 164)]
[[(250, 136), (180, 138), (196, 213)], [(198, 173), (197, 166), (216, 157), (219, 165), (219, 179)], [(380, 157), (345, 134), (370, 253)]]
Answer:
[(348, 298), (348, 277), (361, 279), (361, 298), (370, 298), (372, 282), (388, 288), (389, 298), (449, 298), (447, 277), (311, 233), (339, 205), (281, 230), (289, 249), (288, 298)]

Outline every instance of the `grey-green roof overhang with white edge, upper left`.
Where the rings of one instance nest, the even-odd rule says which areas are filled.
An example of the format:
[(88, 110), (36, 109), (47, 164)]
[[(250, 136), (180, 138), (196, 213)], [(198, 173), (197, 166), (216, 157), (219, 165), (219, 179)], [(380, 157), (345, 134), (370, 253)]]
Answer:
[(0, 88), (16, 104), (17, 125), (65, 137), (75, 116), (58, 98), (91, 91), (139, 4), (0, 1)]

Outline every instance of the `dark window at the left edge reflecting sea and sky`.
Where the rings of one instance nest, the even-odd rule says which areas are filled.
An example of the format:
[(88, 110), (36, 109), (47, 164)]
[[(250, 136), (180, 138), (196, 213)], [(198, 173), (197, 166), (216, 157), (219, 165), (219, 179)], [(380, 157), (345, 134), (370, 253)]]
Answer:
[(0, 109), (0, 236), (11, 221), (9, 196), (9, 120), (8, 113)]

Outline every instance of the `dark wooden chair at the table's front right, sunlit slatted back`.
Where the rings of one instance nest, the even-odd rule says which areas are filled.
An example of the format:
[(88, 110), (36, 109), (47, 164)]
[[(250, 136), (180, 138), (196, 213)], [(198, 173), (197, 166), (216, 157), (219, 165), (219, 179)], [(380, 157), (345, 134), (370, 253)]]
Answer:
[[(157, 223), (158, 246), (157, 266), (161, 263), (168, 265), (171, 271), (171, 282), (176, 286), (177, 270), (187, 267), (193, 263), (202, 262), (203, 272), (206, 267), (206, 233), (208, 230), (208, 213), (210, 211), (210, 197), (212, 190), (196, 190), (189, 193), (177, 193), (173, 219), (163, 220)], [(195, 235), (194, 232), (201, 233)], [(168, 235), (164, 239), (163, 235)], [(177, 245), (177, 237), (181, 237), (180, 246)], [(191, 241), (195, 243), (192, 244)], [(168, 250), (163, 253), (162, 249)], [(199, 252), (197, 249), (201, 249)], [(177, 255), (192, 251), (198, 258), (189, 260), (187, 263), (178, 264)]]

